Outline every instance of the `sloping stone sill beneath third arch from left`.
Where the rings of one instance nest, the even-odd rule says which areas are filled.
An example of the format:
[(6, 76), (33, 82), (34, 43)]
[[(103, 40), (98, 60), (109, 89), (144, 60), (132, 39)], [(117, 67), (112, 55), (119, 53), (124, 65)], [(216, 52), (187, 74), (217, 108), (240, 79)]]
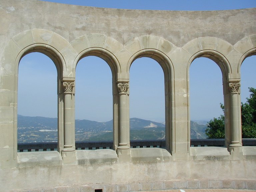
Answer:
[(131, 148), (132, 162), (170, 161), (171, 154), (162, 148)]

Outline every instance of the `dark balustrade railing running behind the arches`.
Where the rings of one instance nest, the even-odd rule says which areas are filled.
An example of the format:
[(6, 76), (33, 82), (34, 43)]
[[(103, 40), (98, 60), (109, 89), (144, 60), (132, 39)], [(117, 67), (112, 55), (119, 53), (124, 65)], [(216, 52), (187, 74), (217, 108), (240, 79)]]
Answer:
[[(256, 146), (256, 139), (242, 139), (243, 146)], [(131, 148), (165, 148), (165, 140), (132, 140)], [(191, 147), (224, 146), (224, 139), (191, 139)], [(54, 151), (57, 150), (57, 142), (44, 143), (18, 143), (18, 152), (30, 151)], [(112, 149), (112, 141), (84, 141), (76, 142), (76, 150)]]

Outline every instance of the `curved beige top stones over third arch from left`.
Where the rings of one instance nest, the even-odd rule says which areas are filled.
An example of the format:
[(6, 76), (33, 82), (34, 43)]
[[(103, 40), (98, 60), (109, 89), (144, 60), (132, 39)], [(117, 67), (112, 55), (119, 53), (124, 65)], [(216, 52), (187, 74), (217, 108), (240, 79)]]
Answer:
[(163, 52), (165, 55), (173, 51), (176, 46), (166, 39), (154, 35), (145, 35), (136, 37), (124, 45), (124, 48), (134, 55), (143, 49), (156, 49)]

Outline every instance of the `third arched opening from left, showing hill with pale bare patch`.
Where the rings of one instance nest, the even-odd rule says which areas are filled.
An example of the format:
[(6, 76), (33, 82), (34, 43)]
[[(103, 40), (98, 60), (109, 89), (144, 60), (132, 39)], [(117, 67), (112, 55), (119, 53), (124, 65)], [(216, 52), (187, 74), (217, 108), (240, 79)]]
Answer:
[(163, 69), (148, 57), (130, 68), (130, 139), (165, 139), (165, 89)]

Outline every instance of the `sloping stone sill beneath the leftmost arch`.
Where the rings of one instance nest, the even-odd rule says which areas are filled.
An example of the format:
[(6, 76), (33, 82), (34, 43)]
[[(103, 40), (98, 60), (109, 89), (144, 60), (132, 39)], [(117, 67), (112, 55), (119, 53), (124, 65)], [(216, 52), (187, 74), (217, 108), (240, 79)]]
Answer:
[(19, 152), (19, 167), (39, 165), (61, 165), (62, 157), (58, 151)]

